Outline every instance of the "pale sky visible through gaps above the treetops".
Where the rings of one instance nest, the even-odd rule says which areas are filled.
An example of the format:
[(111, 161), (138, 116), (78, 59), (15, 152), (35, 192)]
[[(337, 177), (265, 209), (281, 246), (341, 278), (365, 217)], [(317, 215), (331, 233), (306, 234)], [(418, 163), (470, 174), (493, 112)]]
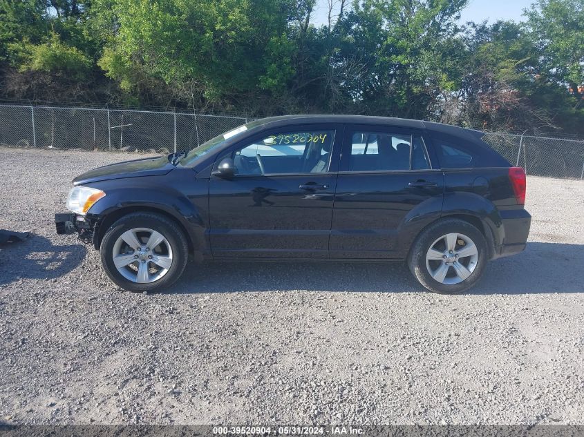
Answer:
[[(534, 0), (470, 0), (469, 6), (461, 12), (460, 23), (467, 21), (489, 22), (498, 19), (522, 21), (523, 9), (529, 8)], [(319, 26), (327, 22), (328, 0), (317, 0), (312, 22)]]

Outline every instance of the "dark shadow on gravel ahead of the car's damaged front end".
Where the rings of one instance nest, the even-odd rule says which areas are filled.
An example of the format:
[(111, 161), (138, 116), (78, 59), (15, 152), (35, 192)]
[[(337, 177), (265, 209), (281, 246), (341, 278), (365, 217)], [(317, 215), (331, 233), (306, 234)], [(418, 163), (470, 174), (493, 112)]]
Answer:
[(0, 244), (0, 285), (58, 278), (81, 264), (86, 253), (83, 244), (59, 246), (32, 233), (21, 242)]

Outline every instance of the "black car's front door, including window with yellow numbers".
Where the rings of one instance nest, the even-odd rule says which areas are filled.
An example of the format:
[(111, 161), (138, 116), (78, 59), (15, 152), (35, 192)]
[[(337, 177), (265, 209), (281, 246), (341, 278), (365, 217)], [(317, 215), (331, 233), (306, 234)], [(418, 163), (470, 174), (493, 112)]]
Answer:
[(339, 126), (265, 131), (218, 157), (236, 175), (209, 179), (214, 258), (326, 258), (341, 144)]

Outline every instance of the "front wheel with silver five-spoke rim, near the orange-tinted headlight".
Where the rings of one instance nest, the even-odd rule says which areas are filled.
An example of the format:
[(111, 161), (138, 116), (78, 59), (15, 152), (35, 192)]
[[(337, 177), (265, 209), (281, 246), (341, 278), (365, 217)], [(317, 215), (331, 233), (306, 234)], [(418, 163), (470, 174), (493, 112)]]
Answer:
[(132, 213), (109, 227), (100, 255), (117, 286), (140, 293), (176, 282), (187, 265), (189, 249), (185, 234), (172, 220), (156, 213)]

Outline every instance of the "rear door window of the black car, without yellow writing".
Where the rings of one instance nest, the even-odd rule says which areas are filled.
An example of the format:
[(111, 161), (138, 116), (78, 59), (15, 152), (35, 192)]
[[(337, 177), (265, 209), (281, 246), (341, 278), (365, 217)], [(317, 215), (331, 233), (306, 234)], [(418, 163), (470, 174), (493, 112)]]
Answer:
[(399, 171), (429, 168), (421, 137), (392, 133), (352, 135), (348, 171)]

